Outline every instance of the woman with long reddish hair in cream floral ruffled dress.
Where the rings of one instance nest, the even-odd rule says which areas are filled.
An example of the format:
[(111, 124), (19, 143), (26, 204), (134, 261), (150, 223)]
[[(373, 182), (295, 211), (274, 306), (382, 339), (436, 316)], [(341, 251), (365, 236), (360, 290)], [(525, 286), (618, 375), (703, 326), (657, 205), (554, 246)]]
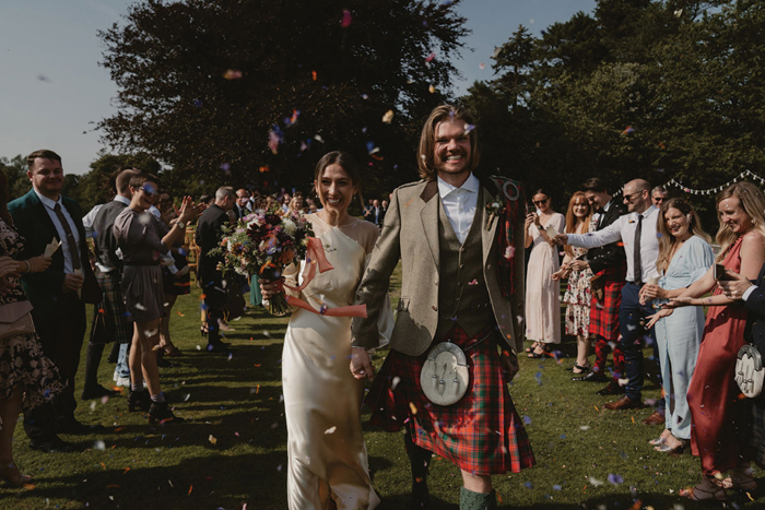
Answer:
[[(592, 207), (582, 191), (574, 193), (568, 201), (566, 211), (566, 233), (586, 234), (595, 230), (597, 222), (592, 218)], [(590, 348), (590, 304), (592, 270), (587, 262), (587, 249), (579, 247), (565, 247), (566, 254), (558, 271), (552, 278), (558, 281), (567, 277), (566, 293), (563, 303), (566, 307), (566, 334), (576, 336), (576, 363), (572, 368), (575, 375), (590, 371), (590, 363), (587, 359)]]

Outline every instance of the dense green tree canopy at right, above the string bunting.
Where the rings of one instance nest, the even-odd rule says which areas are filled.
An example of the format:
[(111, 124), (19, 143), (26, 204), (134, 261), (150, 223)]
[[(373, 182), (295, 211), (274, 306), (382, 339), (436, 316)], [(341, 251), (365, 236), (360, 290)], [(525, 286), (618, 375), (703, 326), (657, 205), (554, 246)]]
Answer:
[(460, 100), (485, 163), (558, 204), (596, 175), (708, 189), (765, 167), (763, 36), (755, 0), (601, 0), (539, 36), (519, 27)]

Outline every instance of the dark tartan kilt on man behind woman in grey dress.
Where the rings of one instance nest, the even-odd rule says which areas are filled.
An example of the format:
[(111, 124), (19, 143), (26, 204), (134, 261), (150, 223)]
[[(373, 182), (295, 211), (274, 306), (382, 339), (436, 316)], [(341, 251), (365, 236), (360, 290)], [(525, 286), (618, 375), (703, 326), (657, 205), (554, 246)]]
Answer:
[(129, 344), (132, 341), (133, 328), (127, 320), (119, 271), (102, 273), (96, 270), (95, 277), (103, 296), (102, 301), (93, 307), (91, 342)]

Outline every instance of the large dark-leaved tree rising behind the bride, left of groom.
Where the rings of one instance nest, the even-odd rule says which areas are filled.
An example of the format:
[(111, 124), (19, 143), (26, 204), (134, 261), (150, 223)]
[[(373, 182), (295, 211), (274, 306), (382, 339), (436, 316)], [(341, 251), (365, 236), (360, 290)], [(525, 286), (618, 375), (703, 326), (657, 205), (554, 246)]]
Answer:
[(410, 180), (467, 33), (457, 3), (143, 1), (99, 33), (119, 91), (98, 129), (210, 188), (305, 187), (336, 149), (376, 170), (365, 186)]

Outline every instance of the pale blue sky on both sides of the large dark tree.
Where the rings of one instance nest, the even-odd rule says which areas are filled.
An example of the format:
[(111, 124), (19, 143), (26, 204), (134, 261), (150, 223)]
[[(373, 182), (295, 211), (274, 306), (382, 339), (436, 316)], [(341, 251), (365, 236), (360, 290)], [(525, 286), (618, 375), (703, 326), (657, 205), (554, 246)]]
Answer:
[[(67, 173), (84, 174), (103, 147), (92, 122), (114, 114), (116, 87), (98, 67), (96, 31), (119, 22), (132, 0), (0, 1), (0, 156), (37, 149), (59, 153)], [(472, 35), (462, 59), (462, 94), (475, 80), (492, 79), (491, 55), (518, 25), (534, 35), (596, 0), (463, 0), (458, 12)], [(481, 63), (485, 63), (483, 70)]]

